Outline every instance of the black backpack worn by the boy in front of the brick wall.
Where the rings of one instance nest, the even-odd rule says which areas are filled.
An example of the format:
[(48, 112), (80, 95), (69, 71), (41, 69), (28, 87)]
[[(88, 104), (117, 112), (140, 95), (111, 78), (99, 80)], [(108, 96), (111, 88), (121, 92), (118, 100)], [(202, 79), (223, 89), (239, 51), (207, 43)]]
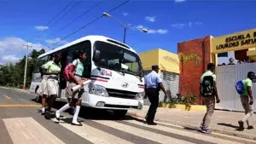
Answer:
[(201, 83), (201, 96), (208, 97), (213, 95), (213, 77), (206, 76)]

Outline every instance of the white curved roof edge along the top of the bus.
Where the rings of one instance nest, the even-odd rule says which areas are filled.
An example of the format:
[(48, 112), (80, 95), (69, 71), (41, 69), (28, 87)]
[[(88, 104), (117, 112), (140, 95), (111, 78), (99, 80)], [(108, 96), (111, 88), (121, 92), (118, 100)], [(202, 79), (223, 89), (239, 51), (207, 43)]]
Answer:
[[(112, 40), (112, 41), (115, 41), (115, 42), (118, 42), (118, 43), (121, 43), (121, 42), (119, 42), (119, 41), (117, 41), (117, 40), (115, 40), (115, 39), (109, 38), (109, 37), (98, 36), (98, 35), (90, 35), (90, 36), (81, 37), (81, 38), (79, 38), (79, 39), (77, 39), (77, 40), (74, 40), (73, 42), (70, 42), (70, 43), (67, 43), (67, 44), (65, 44), (65, 45), (62, 45), (61, 47), (58, 47), (58, 48), (56, 48), (56, 49), (49, 50), (48, 52), (46, 52), (46, 53), (44, 53), (44, 54), (42, 54), (42, 55), (39, 55), (38, 58), (44, 57), (45, 55), (50, 55), (50, 54), (55, 53), (56, 51), (59, 51), (59, 50), (61, 50), (61, 49), (66, 49), (66, 48), (68, 48), (68, 47), (70, 47), (70, 46), (72, 46), (72, 45), (74, 45), (74, 44), (84, 42), (85, 40), (92, 40), (92, 41), (100, 40), (100, 41), (107, 42), (107, 39)], [(113, 43), (113, 44), (114, 44), (114, 43)], [(125, 43), (122, 43), (122, 44), (124, 44), (126, 47), (129, 48), (129, 50), (131, 50), (132, 52), (134, 52), (134, 53), (137, 54), (137, 52), (136, 52), (134, 49), (131, 49), (131, 47), (129, 47), (129, 46), (126, 45)], [(121, 46), (121, 45), (119, 45), (119, 46)], [(122, 46), (121, 46), (121, 47), (122, 47)], [(125, 48), (125, 47), (123, 46), (123, 48)]]

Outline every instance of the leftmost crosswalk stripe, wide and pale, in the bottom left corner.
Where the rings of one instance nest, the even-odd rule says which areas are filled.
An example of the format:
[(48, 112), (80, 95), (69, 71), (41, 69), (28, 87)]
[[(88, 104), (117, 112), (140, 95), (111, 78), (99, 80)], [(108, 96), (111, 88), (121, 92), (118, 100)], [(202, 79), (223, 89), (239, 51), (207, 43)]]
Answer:
[(14, 144), (64, 144), (33, 118), (3, 118)]

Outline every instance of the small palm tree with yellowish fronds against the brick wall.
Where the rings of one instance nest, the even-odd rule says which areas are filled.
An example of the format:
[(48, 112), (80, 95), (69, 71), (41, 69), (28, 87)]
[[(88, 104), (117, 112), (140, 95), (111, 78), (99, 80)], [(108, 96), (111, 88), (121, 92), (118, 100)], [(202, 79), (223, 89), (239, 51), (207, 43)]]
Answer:
[(199, 63), (199, 56), (195, 54), (189, 54), (189, 55), (184, 55), (183, 53), (178, 53), (178, 59), (179, 59), (179, 64), (180, 64), (180, 75), (179, 78), (181, 79), (180, 81), (180, 91), (183, 90), (183, 66), (188, 63), (189, 61), (194, 61), (195, 64)]

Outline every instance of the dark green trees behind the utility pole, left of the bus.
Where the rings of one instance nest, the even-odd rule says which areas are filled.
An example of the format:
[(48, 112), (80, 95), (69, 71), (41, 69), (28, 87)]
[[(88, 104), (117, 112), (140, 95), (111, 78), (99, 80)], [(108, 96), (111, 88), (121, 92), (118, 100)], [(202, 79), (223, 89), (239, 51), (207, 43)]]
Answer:
[[(36, 59), (39, 55), (44, 53), (44, 49), (39, 51), (33, 49), (32, 53), (29, 55), (29, 57), (32, 59), (27, 60), (26, 87), (31, 84), (32, 72), (36, 63)], [(0, 85), (21, 88), (23, 86), (25, 64), (26, 56), (24, 56), (23, 59), (17, 63), (7, 63), (3, 65), (0, 70)]]

